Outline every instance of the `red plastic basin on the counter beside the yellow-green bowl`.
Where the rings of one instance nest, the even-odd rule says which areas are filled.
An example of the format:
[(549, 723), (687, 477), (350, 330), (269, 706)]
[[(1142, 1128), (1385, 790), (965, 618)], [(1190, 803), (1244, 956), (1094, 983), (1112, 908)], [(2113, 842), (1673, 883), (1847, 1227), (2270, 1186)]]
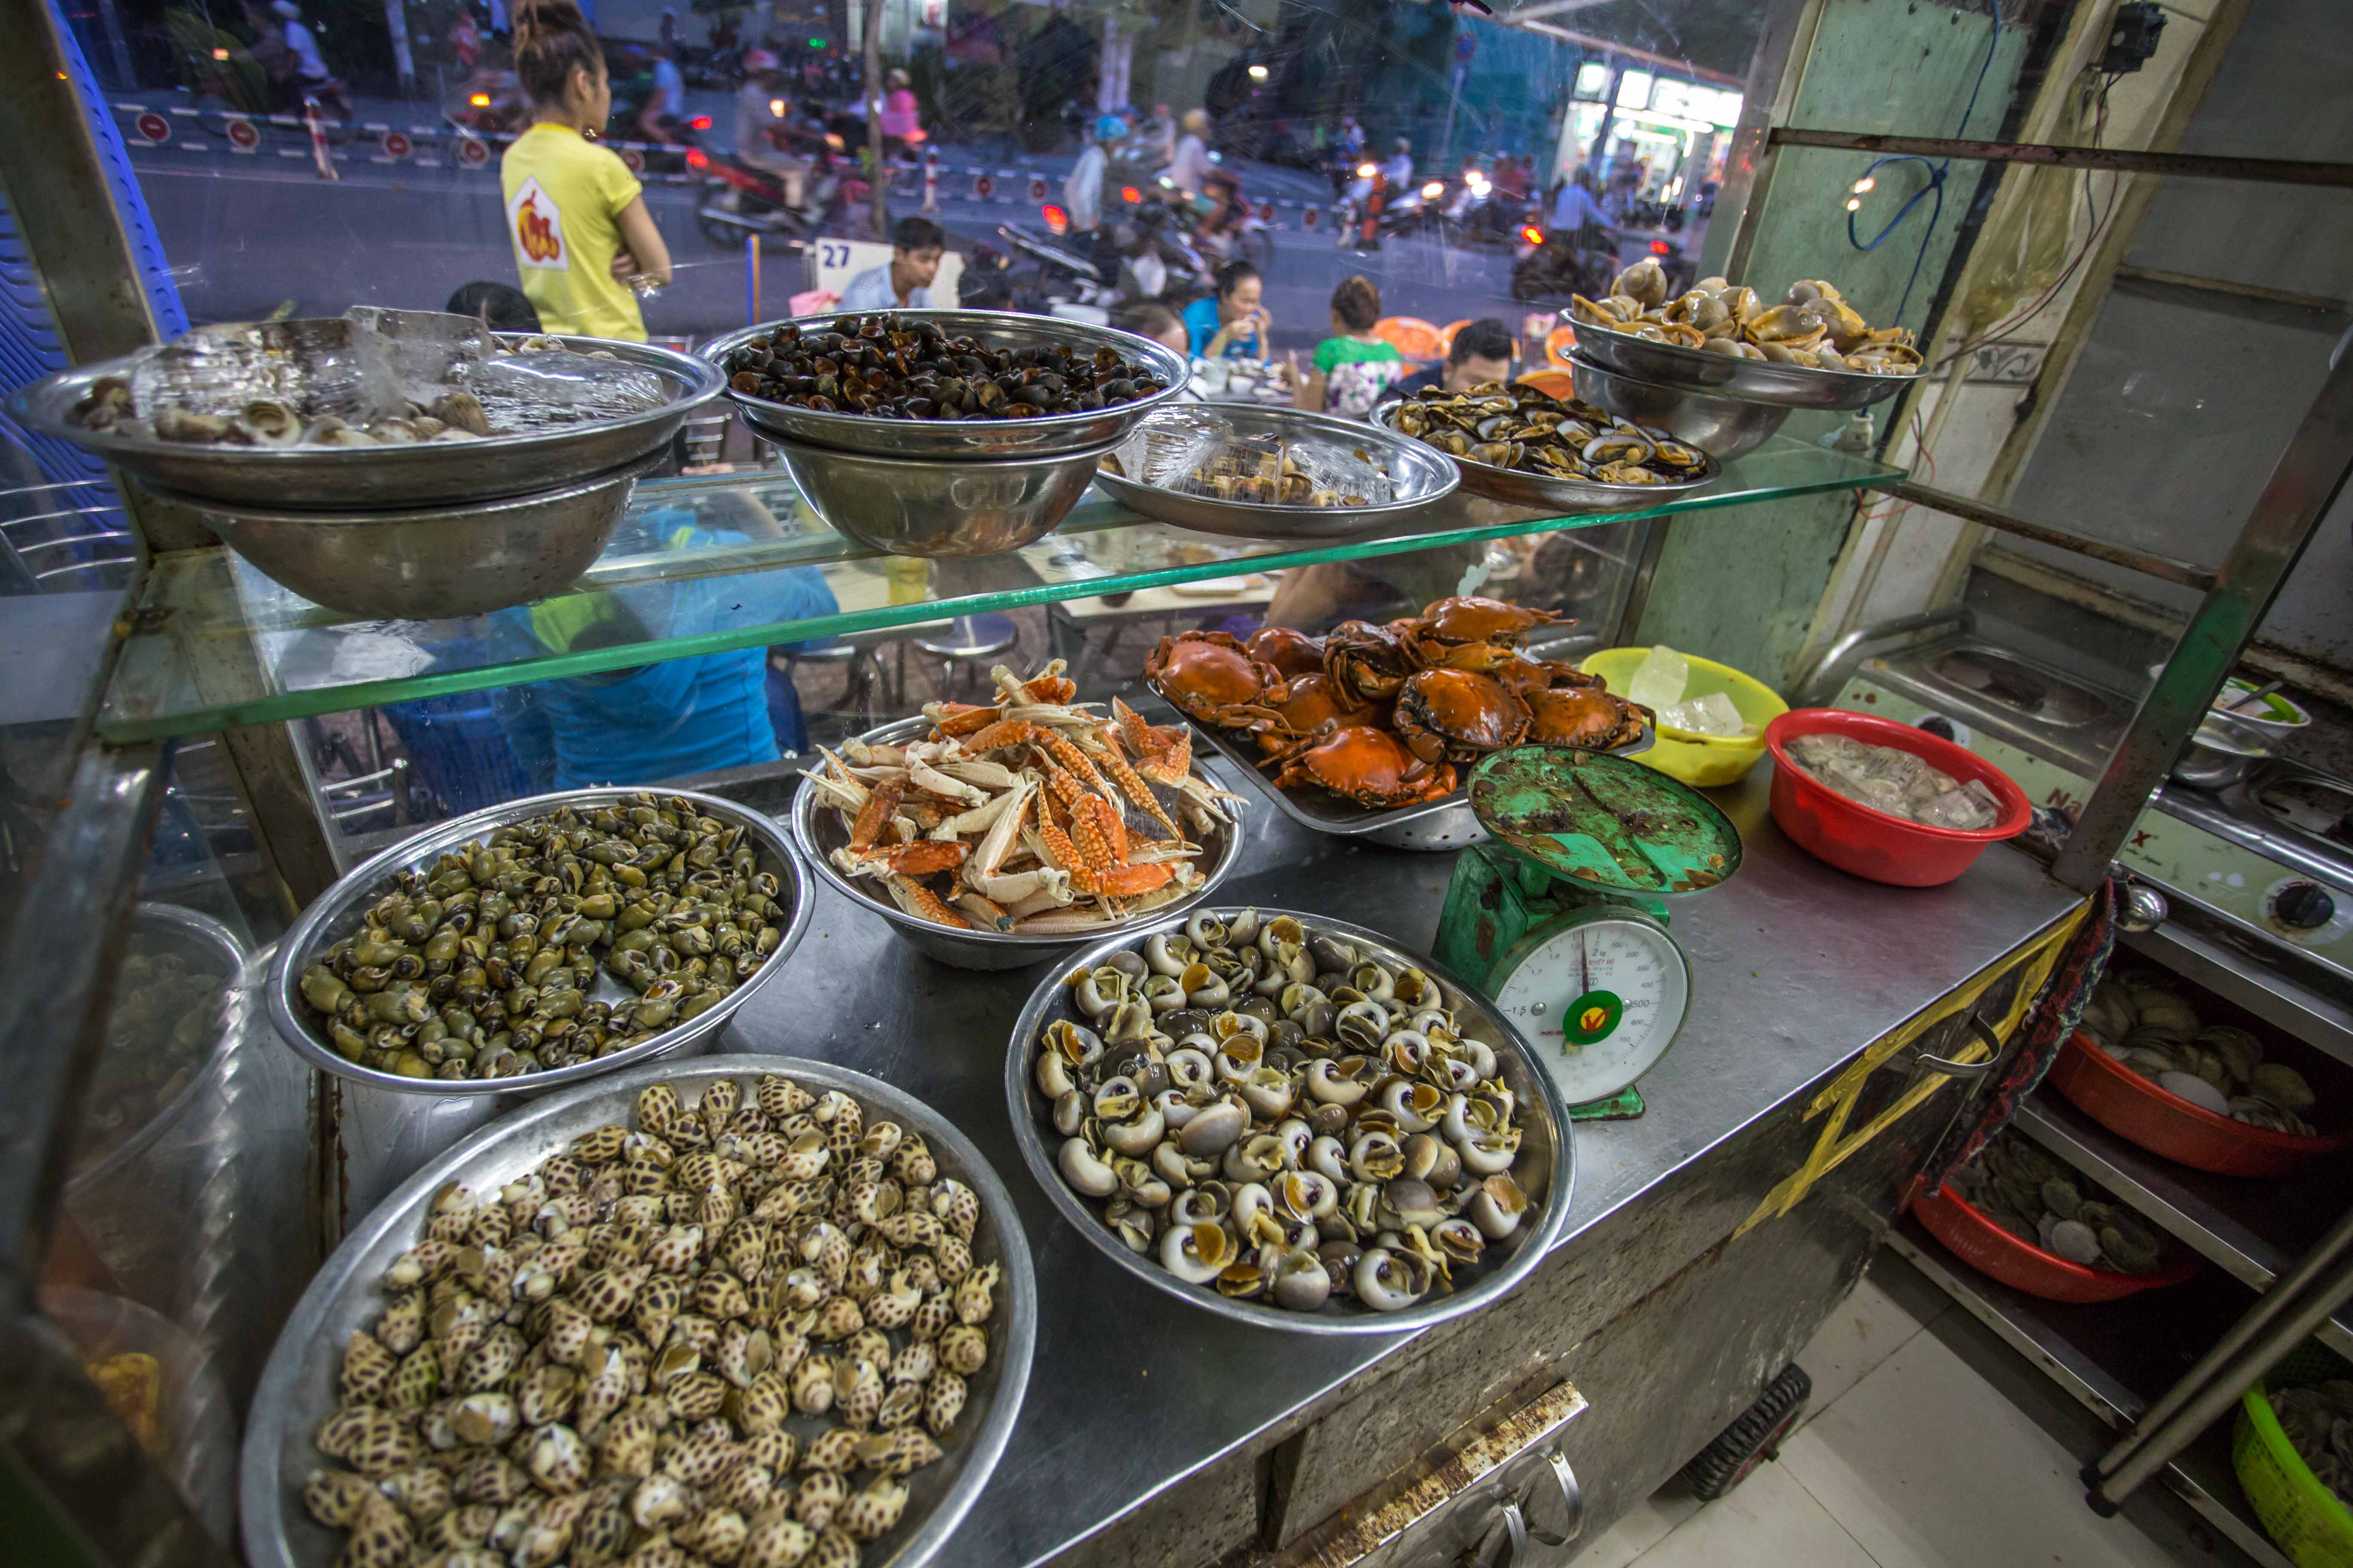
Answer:
[[(1798, 736), (1838, 733), (1866, 745), (1894, 745), (1913, 752), (1929, 766), (1967, 783), (1981, 780), (2002, 802), (2002, 818), (1993, 827), (1974, 832), (1962, 827), (1929, 827), (1889, 816), (1875, 806), (1847, 799), (1838, 790), (1817, 783), (1812, 773), (1788, 759), (1788, 743)], [(1894, 886), (1937, 886), (1969, 870), (1986, 844), (1998, 844), (2026, 832), (2033, 823), (2033, 806), (2026, 792), (2009, 780), (2009, 773), (1993, 766), (1977, 752), (1939, 741), (1925, 729), (1880, 719), (1868, 712), (1845, 712), (1842, 708), (1795, 708), (1765, 726), (1765, 748), (1772, 752), (1772, 820), (1781, 832), (1821, 860), (1842, 872), (1889, 882)]]

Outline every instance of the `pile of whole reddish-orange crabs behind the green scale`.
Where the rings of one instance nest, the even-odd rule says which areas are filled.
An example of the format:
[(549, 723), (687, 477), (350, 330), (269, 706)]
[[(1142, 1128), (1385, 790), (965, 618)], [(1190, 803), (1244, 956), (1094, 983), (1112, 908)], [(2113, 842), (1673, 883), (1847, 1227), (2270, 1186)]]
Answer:
[(1278, 788), (1315, 785), (1362, 806), (1454, 790), (1454, 764), (1508, 745), (1609, 750), (1652, 719), (1577, 665), (1520, 642), (1562, 616), (1501, 599), (1438, 599), (1419, 616), (1346, 621), (1327, 637), (1271, 625), (1162, 637), (1144, 663), (1186, 717), (1257, 736)]

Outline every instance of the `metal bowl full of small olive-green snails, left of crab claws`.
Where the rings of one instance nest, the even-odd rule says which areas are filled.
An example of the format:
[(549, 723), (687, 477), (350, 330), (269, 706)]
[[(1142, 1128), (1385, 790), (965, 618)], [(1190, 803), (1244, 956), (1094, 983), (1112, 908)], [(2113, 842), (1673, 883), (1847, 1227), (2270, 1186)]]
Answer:
[[(565, 957), (576, 959), (574, 964), (569, 964), (572, 978), (579, 978), (584, 969), (591, 969), (588, 978), (576, 985), (579, 1006), (581, 1009), (602, 1006), (609, 1011), (609, 1030), (605, 1030), (607, 1041), (591, 1046), (605, 1051), (605, 1056), (565, 1051), (567, 1060), (562, 1060), (560, 1065), (539, 1067), (534, 1065), (536, 1051), (532, 1056), (525, 1056), (527, 1046), (522, 1044), (520, 1034), (522, 1025), (534, 1025), (534, 1030), (555, 1037), (558, 1030), (553, 1025), (560, 1020), (558, 1016), (572, 1009), (574, 1001), (567, 999), (555, 1006), (536, 1006), (529, 997), (522, 997), (525, 990), (536, 992), (539, 1001), (546, 1001), (548, 997), (555, 994), (553, 990), (539, 990), (539, 980), (546, 980), (546, 976), (541, 976), (539, 980), (529, 980), (529, 964), (532, 959), (541, 957), (539, 952), (534, 952), (529, 957), (513, 959), (515, 964), (522, 964), (522, 973), (515, 976), (515, 985), (496, 980), (496, 994), (492, 997), (492, 1006), (504, 1001), (508, 1016), (506, 1034), (511, 1041), (508, 1056), (513, 1056), (520, 1063), (520, 1070), (515, 1072), (496, 1072), (496, 1063), (480, 1060), (482, 1051), (489, 1048), (489, 1041), (475, 1048), (471, 1063), (461, 1060), (456, 1067), (449, 1067), (447, 1058), (452, 1053), (447, 1048), (435, 1051), (438, 1056), (442, 1056), (440, 1063), (431, 1060), (433, 1053), (421, 1051), (421, 1046), (426, 1044), (421, 1032), (431, 1027), (428, 1020), (447, 1018), (447, 1006), (452, 1001), (464, 1001), (461, 997), (454, 994), (440, 994), (442, 992), (440, 980), (447, 978), (447, 971), (452, 971), (452, 964), (456, 961), (452, 954), (435, 957), (435, 952), (440, 950), (433, 945), (433, 940), (440, 938), (445, 931), (449, 931), (454, 924), (447, 917), (442, 917), (442, 922), (435, 924), (433, 912), (424, 910), (419, 912), (424, 926), (409, 933), (416, 938), (414, 943), (409, 940), (388, 943), (391, 947), (398, 947), (398, 952), (393, 952), (395, 961), (414, 957), (416, 969), (421, 969), (421, 973), (414, 976), (414, 987), (407, 980), (402, 980), (398, 971), (393, 976), (369, 976), (367, 980), (360, 980), (358, 973), (351, 973), (348, 985), (344, 976), (329, 976), (332, 985), (318, 978), (320, 973), (325, 973), (325, 959), (329, 957), (332, 950), (346, 943), (346, 938), (365, 938), (369, 933), (374, 924), (372, 912), (379, 910), (388, 896), (398, 893), (405, 884), (416, 884), (416, 889), (426, 893), (428, 886), (440, 875), (456, 870), (459, 865), (454, 860), (456, 851), (464, 851), (468, 844), (492, 846), (494, 835), (499, 835), (506, 827), (518, 827), (522, 823), (529, 823), (534, 818), (572, 816), (581, 820), (593, 820), (595, 813), (600, 811), (616, 811), (621, 813), (624, 820), (633, 811), (654, 813), (656, 818), (654, 823), (647, 825), (628, 823), (626, 827), (621, 827), (621, 832), (638, 835), (640, 839), (645, 839), (640, 844), (645, 858), (652, 858), (654, 832), (668, 832), (668, 835), (685, 832), (689, 839), (713, 837), (694, 832), (689, 827), (678, 827), (675, 823), (661, 823), (659, 818), (664, 813), (671, 818), (685, 818), (687, 813), (692, 813), (696, 823), (718, 823), (720, 844), (727, 844), (727, 839), (732, 837), (734, 849), (751, 853), (751, 867), (753, 867), (751, 875), (755, 879), (755, 886), (767, 889), (769, 882), (765, 879), (774, 879), (774, 893), (767, 898), (772, 900), (776, 914), (774, 919), (762, 917), (760, 924), (774, 931), (776, 936), (760, 938), (758, 933), (753, 933), (748, 938), (753, 940), (753, 945), (758, 945), (760, 940), (769, 940), (767, 957), (758, 966), (753, 966), (751, 973), (741, 973), (732, 987), (715, 987), (708, 983), (708, 959), (704, 959), (706, 964), (704, 971), (694, 971), (694, 961), (696, 957), (701, 957), (699, 952), (701, 936), (689, 938), (682, 929), (673, 929), (680, 922), (675, 922), (668, 914), (645, 924), (645, 931), (654, 933), (647, 947), (664, 947), (666, 957), (661, 961), (666, 964), (675, 961), (678, 969), (682, 971), (706, 976), (696, 985), (704, 990), (720, 990), (715, 1001), (699, 1001), (699, 990), (689, 990), (680, 980), (678, 985), (680, 994), (668, 1013), (671, 1020), (656, 1027), (656, 1032), (647, 1034), (645, 1032), (649, 1027), (647, 1016), (638, 1009), (642, 1009), (642, 1004), (649, 997), (656, 997), (656, 992), (616, 978), (616, 969), (612, 964), (616, 943), (602, 943), (600, 938), (595, 943), (579, 943), (562, 947)], [(614, 835), (600, 835), (600, 844), (609, 844), (612, 837)], [(729, 865), (718, 867), (720, 875), (727, 877), (734, 875), (734, 867), (739, 865), (734, 849), (727, 851)], [(628, 882), (621, 865), (612, 865), (609, 870), (616, 877), (621, 877), (621, 882), (616, 882), (614, 886)], [(664, 893), (668, 891), (668, 884), (678, 882), (680, 889), (678, 893), (673, 893), (673, 905), (671, 905), (675, 910), (675, 898), (687, 891), (687, 884), (692, 884), (696, 870), (708, 872), (713, 867), (664, 865), (664, 863), (654, 863), (649, 870), (638, 867), (638, 882), (621, 886), (621, 903), (628, 903), (640, 884), (649, 886), (654, 893)], [(478, 882), (473, 877), (468, 879)], [(565, 919), (567, 914), (586, 912), (579, 898), (572, 898), (574, 907), (567, 910), (565, 896), (544, 896), (536, 889), (520, 889), (504, 872), (499, 872), (494, 882), (513, 886), (513, 891), (508, 893), (508, 903), (513, 903), (515, 910), (511, 912), (518, 914), (520, 919), (529, 919), (532, 929), (525, 931), (520, 919), (518, 924), (501, 926), (499, 931), (482, 938), (480, 957), (494, 957), (496, 945), (511, 947), (515, 936), (527, 936), (539, 950), (548, 950), (548, 943), (544, 938), (551, 931), (544, 922), (558, 922)], [(464, 893), (459, 898), (464, 898)], [(452, 898), (447, 903), (456, 900)], [(562, 1084), (576, 1084), (581, 1079), (619, 1072), (621, 1067), (633, 1067), (638, 1063), (664, 1056), (692, 1056), (694, 1051), (708, 1046), (718, 1037), (718, 1032), (727, 1025), (727, 1018), (739, 1006), (744, 1006), (751, 999), (751, 994), (760, 990), (779, 969), (784, 969), (784, 961), (791, 957), (793, 947), (800, 943), (800, 936), (809, 924), (809, 905), (812, 900), (809, 900), (807, 875), (800, 870), (800, 860), (793, 856), (791, 844), (786, 844), (784, 830), (767, 816), (751, 811), (748, 806), (720, 799), (718, 795), (696, 795), (692, 790), (593, 788), (593, 790), (562, 790), (555, 795), (532, 795), (527, 799), (506, 802), (504, 806), (487, 806), (482, 811), (473, 811), (468, 816), (452, 818), (447, 823), (435, 823), (433, 827), (419, 832), (416, 837), (402, 839), (400, 844), (393, 844), (372, 860), (353, 867), (332, 889), (327, 889), (308, 910), (304, 910), (301, 919), (294, 922), (294, 929), (285, 936), (285, 940), (278, 943), (278, 957), (271, 964), (271, 978), (266, 987), (271, 1025), (275, 1025), (278, 1037), (287, 1041), (299, 1056), (304, 1056), (313, 1067), (322, 1067), (325, 1072), (332, 1072), (341, 1079), (369, 1084), (374, 1088), (386, 1088), (402, 1095), (445, 1095), (445, 1098), (539, 1093), (546, 1088), (558, 1088)], [(612, 924), (619, 926), (624, 922), (616, 917)], [(725, 922), (699, 922), (696, 929), (718, 931), (720, 924)], [(426, 926), (431, 926), (431, 931)], [(459, 931), (456, 936), (452, 936), (449, 945), (461, 945), (466, 936), (473, 936), (473, 931)], [(635, 936), (635, 933), (624, 931), (624, 936)], [(713, 936), (713, 952), (720, 940), (722, 936)], [(741, 959), (736, 959), (734, 966), (741, 969)], [(400, 999), (402, 990), (412, 990), (412, 994), (421, 997), (428, 1006), (416, 1009), (414, 1004), (409, 1004), (407, 1016), (402, 1016), (395, 1001), (391, 1004), (395, 1011), (384, 1011), (381, 1018), (372, 1016), (374, 1020), (365, 1023), (365, 1034), (351, 1030), (351, 1025), (344, 1025), (344, 1030), (339, 1032), (336, 1030), (339, 1013), (320, 1011), (322, 1004), (341, 1006), (353, 999), (348, 994), (339, 994), (336, 987), (341, 987), (344, 992), (358, 992), (362, 1006), (376, 1004), (381, 1009), (386, 1004), (379, 1004), (376, 999), (384, 997)], [(313, 994), (313, 990), (318, 990), (320, 994)], [(671, 987), (664, 987), (659, 994), (668, 992)], [(416, 1016), (419, 1011), (421, 1016)], [(631, 1016), (628, 1025), (621, 1023), (624, 1013)], [(569, 1013), (572, 1020), (576, 1020), (579, 1016), (581, 1013)], [(402, 1030), (416, 1030), (416, 1032), (409, 1034), (405, 1041), (393, 1041), (391, 1037), (386, 1037), (384, 1046), (376, 1046), (374, 1041), (379, 1034), (379, 1025), (388, 1025), (395, 1032)], [(442, 1025), (442, 1030), (447, 1032), (447, 1025)], [(609, 1037), (614, 1034), (619, 1034), (624, 1044), (612, 1046)], [(414, 1060), (409, 1060), (412, 1048), (414, 1048)], [(442, 1072), (447, 1072), (449, 1077), (442, 1077)]]

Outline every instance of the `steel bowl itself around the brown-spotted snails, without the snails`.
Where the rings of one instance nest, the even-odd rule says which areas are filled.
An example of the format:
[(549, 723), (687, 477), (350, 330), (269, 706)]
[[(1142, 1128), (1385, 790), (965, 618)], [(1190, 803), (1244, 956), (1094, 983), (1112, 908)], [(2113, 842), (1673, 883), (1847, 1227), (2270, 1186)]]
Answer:
[[(334, 1248), (271, 1349), (240, 1455), (238, 1509), (247, 1561), (254, 1568), (327, 1568), (336, 1559), (336, 1533), (318, 1526), (301, 1502), (304, 1479), (325, 1462), (311, 1434), (334, 1408), (344, 1342), (384, 1314), (384, 1269), (421, 1239), (433, 1194), (445, 1182), (485, 1192), (518, 1180), (581, 1133), (607, 1121), (628, 1124), (638, 1091), (649, 1084), (675, 1084), (682, 1098), (694, 1100), (708, 1084), (736, 1079), (748, 1098), (762, 1072), (781, 1072), (809, 1088), (840, 1088), (868, 1112), (922, 1133), (941, 1175), (965, 1182), (981, 1201), (972, 1258), (1002, 1272), (998, 1316), (988, 1326), (988, 1363), (967, 1380), (965, 1413), (944, 1443), (946, 1458), (908, 1476), (913, 1495), (906, 1516), (896, 1530), (866, 1547), (861, 1559), (866, 1568), (920, 1568), (932, 1561), (988, 1483), (1021, 1413), (1038, 1340), (1038, 1281), (1028, 1241), (1005, 1182), (939, 1112), (864, 1072), (795, 1056), (654, 1063), (581, 1084), (482, 1128), (402, 1182)], [(814, 1425), (809, 1418), (793, 1418), (791, 1432), (809, 1436)]]

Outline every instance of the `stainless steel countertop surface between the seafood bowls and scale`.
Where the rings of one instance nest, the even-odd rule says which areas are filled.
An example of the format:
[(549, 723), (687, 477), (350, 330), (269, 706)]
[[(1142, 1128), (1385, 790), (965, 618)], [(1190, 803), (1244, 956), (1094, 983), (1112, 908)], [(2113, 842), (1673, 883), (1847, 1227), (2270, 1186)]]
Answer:
[[(1767, 778), (1769, 764), (1715, 792), (1748, 858), (1725, 886), (1673, 907), (1697, 976), (1692, 1020), (1642, 1079), (1642, 1119), (1579, 1126), (1565, 1248), (2073, 907), (2073, 893), (2009, 849), (1944, 889), (1847, 877), (1781, 837)], [(1327, 912), (1431, 947), (1452, 856), (1353, 846), (1264, 802), (1249, 835), (1247, 870), (1219, 903)], [(946, 1549), (969, 1568), (1040, 1563), (1235, 1448), (1297, 1432), (1412, 1338), (1228, 1324), (1127, 1279), (1071, 1232), (1005, 1124), (1000, 1053), (1045, 973), (944, 969), (819, 886), (791, 969), (718, 1046), (873, 1072), (962, 1126), (1014, 1190), (1042, 1298), (1038, 1375), (995, 1479)]]

